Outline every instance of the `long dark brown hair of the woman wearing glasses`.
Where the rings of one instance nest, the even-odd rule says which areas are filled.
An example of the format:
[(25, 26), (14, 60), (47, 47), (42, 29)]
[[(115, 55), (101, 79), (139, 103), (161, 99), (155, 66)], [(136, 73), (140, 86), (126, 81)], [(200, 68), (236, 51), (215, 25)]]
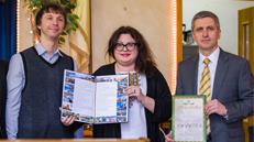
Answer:
[(152, 53), (148, 43), (145, 41), (143, 35), (131, 26), (121, 26), (113, 32), (109, 39), (107, 53), (110, 57), (114, 57), (114, 48), (117, 47), (118, 40), (121, 34), (130, 34), (136, 42), (139, 47), (137, 58), (135, 61), (135, 70), (140, 74), (146, 75), (147, 78), (151, 78), (154, 75), (154, 67), (156, 63), (154, 61), (154, 54)]

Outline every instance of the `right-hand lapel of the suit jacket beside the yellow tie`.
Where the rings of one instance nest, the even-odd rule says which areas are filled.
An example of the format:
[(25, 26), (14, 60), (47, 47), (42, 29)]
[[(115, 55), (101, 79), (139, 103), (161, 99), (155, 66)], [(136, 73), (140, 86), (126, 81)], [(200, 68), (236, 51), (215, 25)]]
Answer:
[(218, 98), (220, 88), (222, 86), (222, 83), (225, 77), (225, 73), (229, 68), (228, 64), (228, 56), (224, 51), (220, 48), (220, 55), (217, 64), (217, 69), (216, 69), (216, 77), (214, 77), (214, 83), (213, 83), (213, 94), (212, 94), (212, 99)]

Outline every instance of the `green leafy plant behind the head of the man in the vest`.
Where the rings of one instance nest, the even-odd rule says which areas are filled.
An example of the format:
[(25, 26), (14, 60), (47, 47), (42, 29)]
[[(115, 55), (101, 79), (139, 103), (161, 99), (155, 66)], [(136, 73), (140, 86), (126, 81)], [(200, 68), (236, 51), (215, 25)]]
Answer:
[(63, 6), (65, 11), (67, 12), (67, 24), (58, 41), (59, 44), (63, 44), (65, 43), (64, 35), (70, 34), (71, 30), (76, 32), (76, 30), (78, 29), (78, 24), (76, 21), (79, 20), (79, 17), (77, 14), (73, 14), (74, 9), (77, 7), (77, 1), (76, 0), (24, 0), (24, 8), (32, 13), (32, 17), (35, 17), (37, 11), (41, 9), (41, 7), (48, 2), (58, 2), (59, 4)]

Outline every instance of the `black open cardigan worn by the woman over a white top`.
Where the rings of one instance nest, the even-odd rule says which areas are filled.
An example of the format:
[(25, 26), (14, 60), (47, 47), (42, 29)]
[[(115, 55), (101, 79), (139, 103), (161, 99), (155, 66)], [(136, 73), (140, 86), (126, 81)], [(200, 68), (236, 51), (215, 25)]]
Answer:
[[(115, 75), (114, 64), (101, 66), (93, 75)], [(155, 100), (154, 113), (145, 109), (147, 136), (151, 142), (159, 142), (158, 123), (167, 121), (172, 117), (172, 94), (162, 73), (154, 67), (152, 78), (147, 78), (147, 97)], [(121, 138), (121, 124), (95, 124), (93, 138)]]

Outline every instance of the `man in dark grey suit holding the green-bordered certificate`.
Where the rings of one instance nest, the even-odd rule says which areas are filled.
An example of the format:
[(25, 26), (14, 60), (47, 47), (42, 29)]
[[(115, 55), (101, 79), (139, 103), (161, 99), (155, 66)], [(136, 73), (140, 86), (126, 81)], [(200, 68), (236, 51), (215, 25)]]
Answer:
[[(197, 13), (191, 31), (199, 53), (178, 64), (176, 95), (200, 95), (202, 72), (208, 66), (211, 96), (205, 106), (210, 120), (208, 142), (245, 142), (243, 119), (254, 111), (250, 63), (219, 47), (221, 30), (214, 13)], [(203, 63), (206, 58), (208, 63)], [(167, 141), (173, 141), (169, 138), (170, 134), (166, 135)]]

